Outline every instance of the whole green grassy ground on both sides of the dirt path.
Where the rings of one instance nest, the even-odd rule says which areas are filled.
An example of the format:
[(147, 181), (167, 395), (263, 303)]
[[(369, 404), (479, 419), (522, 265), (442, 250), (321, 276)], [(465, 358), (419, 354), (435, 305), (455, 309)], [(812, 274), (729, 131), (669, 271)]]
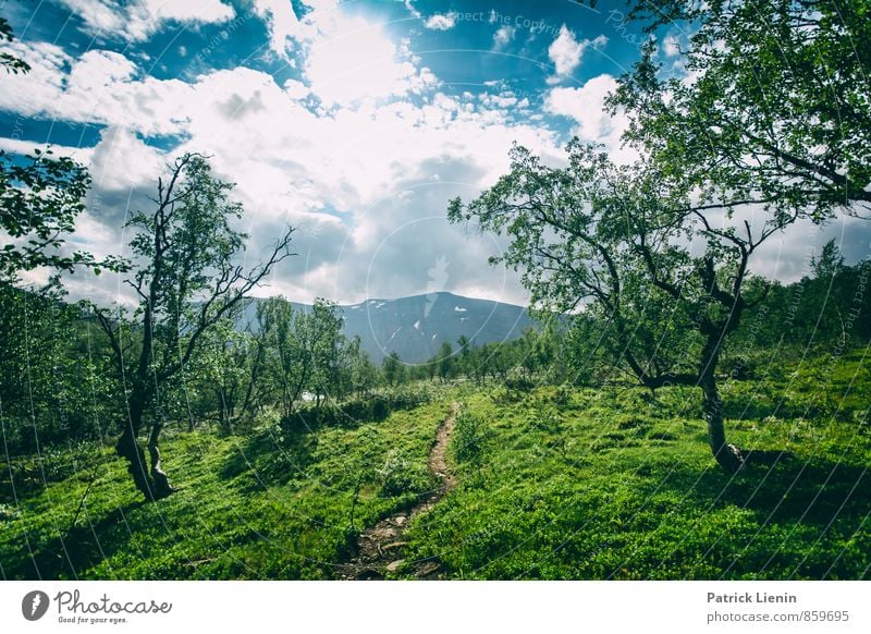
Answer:
[(34, 458), (27, 477), (15, 463), (0, 565), (7, 578), (330, 578), (365, 526), (433, 486), (427, 456), (458, 400), (457, 486), (412, 523), (406, 560), (436, 558), (449, 578), (868, 578), (870, 388), (861, 355), (727, 383), (729, 439), (794, 456), (736, 477), (715, 467), (684, 388), (518, 399), (466, 383), (354, 427), (179, 432), (164, 463), (182, 488), (158, 503), (110, 449), (59, 451), (45, 485)]

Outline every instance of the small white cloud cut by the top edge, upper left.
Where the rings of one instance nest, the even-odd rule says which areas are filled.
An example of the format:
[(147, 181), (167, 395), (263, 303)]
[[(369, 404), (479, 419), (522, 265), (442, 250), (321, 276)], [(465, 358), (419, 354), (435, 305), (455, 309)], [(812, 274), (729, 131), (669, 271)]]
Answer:
[(100, 37), (121, 36), (143, 41), (169, 22), (210, 24), (232, 20), (235, 11), (220, 0), (60, 0), (85, 22), (85, 31)]

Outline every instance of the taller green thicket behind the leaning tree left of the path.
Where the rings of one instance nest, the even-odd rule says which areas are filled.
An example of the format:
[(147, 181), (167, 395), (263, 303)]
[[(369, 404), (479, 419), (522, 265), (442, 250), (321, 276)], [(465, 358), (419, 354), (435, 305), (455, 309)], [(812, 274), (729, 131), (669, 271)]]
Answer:
[[(245, 325), (249, 304), (255, 317)], [(265, 415), (290, 424), (302, 410), (375, 399), (388, 385), (384, 371), (359, 338), (345, 337), (343, 322), (324, 300), (310, 309), (282, 297), (247, 300), (208, 331), (182, 373), (160, 383), (160, 407), (149, 417), (232, 432)], [(114, 327), (135, 357), (140, 326)], [(123, 371), (87, 304), (66, 302), (57, 284), (25, 290), (0, 282), (0, 422), (10, 453), (114, 436), (127, 415)]]

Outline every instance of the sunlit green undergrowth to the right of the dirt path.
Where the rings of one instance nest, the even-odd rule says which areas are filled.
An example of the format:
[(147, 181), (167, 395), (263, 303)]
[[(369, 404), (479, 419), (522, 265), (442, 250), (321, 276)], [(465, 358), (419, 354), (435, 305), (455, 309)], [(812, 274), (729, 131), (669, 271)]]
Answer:
[(731, 441), (774, 452), (734, 477), (715, 467), (695, 389), (467, 397), (459, 484), (412, 525), (409, 559), (450, 578), (871, 576), (864, 357), (723, 393)]

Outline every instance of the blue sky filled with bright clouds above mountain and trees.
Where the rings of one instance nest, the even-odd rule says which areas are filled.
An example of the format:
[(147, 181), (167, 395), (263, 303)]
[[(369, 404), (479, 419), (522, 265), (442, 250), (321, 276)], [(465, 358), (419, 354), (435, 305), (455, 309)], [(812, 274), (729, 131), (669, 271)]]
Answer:
[[(287, 224), (297, 254), (260, 295), (356, 303), (451, 291), (515, 304), (498, 236), (449, 224), (507, 169), (519, 143), (559, 164), (578, 136), (617, 161), (625, 118), (603, 112), (645, 41), (623, 2), (0, 0), (12, 51), (0, 76), (0, 149), (51, 144), (90, 169), (71, 247), (124, 254), (124, 223), (185, 151), (236, 183), (246, 258)], [(657, 34), (680, 72), (687, 34)], [(673, 71), (670, 71), (673, 69)], [(867, 257), (871, 223), (798, 224), (753, 270), (793, 281), (830, 239)], [(118, 277), (66, 280), (73, 297), (124, 298)]]

